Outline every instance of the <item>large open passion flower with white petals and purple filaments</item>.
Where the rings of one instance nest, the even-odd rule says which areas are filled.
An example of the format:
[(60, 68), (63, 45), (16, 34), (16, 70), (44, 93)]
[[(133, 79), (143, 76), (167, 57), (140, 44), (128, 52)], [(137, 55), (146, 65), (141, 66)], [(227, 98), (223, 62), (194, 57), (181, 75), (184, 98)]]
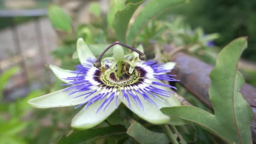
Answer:
[[(111, 47), (113, 57), (101, 59)], [(125, 55), (123, 47), (133, 52)], [(96, 59), (84, 40), (79, 38), (77, 54), (81, 64), (75, 71), (50, 65), (56, 77), (69, 87), (30, 99), (30, 105), (36, 108), (83, 106), (71, 123), (73, 128), (83, 129), (92, 128), (107, 119), (121, 103), (152, 124), (171, 120), (160, 108), (180, 105), (171, 91), (175, 87), (161, 81), (177, 81), (168, 74), (175, 63), (144, 61), (146, 56), (142, 46), (135, 49), (115, 42)]]

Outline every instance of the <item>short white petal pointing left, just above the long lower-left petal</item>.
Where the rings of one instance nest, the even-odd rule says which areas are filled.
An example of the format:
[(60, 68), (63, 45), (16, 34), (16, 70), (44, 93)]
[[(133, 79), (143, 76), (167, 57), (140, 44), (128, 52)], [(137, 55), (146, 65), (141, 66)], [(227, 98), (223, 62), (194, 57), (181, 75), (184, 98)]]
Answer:
[(51, 70), (53, 73), (58, 77), (61, 81), (65, 83), (69, 83), (68, 80), (64, 80), (67, 77), (75, 77), (77, 74), (72, 73), (71, 70), (61, 69), (57, 66), (50, 65)]

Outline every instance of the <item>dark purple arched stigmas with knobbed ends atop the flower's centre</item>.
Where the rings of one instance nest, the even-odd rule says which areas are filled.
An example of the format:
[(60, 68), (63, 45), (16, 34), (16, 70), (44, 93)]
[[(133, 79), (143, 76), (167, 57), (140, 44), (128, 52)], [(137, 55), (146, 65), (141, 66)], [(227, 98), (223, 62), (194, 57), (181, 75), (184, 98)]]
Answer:
[(96, 59), (96, 61), (94, 61), (93, 66), (96, 67), (96, 68), (101, 67), (101, 62), (100, 62), (101, 57), (109, 50), (109, 48), (111, 48), (112, 46), (117, 45), (117, 44), (118, 44), (118, 45), (122, 45), (122, 46), (124, 46), (124, 47), (126, 47), (126, 48), (129, 48), (130, 50), (135, 51), (136, 53), (138, 53), (138, 54), (139, 54), (139, 59), (140, 59), (141, 61), (146, 60), (146, 55), (145, 55), (144, 53), (142, 53), (141, 51), (139, 51), (139, 50), (137, 50), (137, 49), (135, 49), (135, 48), (133, 48), (133, 47), (131, 47), (131, 46), (128, 46), (128, 45), (125, 45), (125, 44), (123, 44), (123, 43), (120, 43), (120, 42), (116, 41), (115, 43), (112, 43), (111, 45), (109, 45), (109, 46), (99, 55), (99, 57)]

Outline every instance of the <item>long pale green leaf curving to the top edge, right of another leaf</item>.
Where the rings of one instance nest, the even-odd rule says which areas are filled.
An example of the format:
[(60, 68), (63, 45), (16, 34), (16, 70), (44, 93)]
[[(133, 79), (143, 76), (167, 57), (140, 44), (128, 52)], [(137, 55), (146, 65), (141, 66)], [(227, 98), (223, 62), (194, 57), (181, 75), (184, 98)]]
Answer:
[(160, 16), (171, 6), (184, 3), (185, 0), (149, 0), (136, 17), (130, 30), (127, 32), (127, 44), (132, 45), (141, 29), (152, 19)]

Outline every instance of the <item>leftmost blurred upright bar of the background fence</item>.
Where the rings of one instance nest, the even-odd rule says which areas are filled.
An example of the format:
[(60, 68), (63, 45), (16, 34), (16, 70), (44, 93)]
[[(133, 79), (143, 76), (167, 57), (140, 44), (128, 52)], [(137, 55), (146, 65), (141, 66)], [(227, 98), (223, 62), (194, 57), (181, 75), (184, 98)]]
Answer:
[[(22, 49), (21, 49), (21, 45), (20, 45), (20, 40), (19, 40), (19, 35), (18, 35), (18, 29), (17, 29), (16, 24), (13, 21), (12, 17), (10, 17), (10, 24), (11, 24), (11, 27), (12, 27), (11, 32), (12, 32), (12, 35), (13, 35), (13, 43), (14, 43), (16, 51), (17, 51), (16, 54), (20, 54), (21, 57), (22, 57), (22, 60), (20, 62), (21, 63), (21, 67), (24, 70), (22, 74), (25, 77), (27, 84), (29, 85), (29, 78), (28, 78), (26, 64), (25, 64), (25, 57), (24, 57), (24, 54), (22, 53)], [(30, 85), (29, 85), (29, 87), (30, 87)]]

